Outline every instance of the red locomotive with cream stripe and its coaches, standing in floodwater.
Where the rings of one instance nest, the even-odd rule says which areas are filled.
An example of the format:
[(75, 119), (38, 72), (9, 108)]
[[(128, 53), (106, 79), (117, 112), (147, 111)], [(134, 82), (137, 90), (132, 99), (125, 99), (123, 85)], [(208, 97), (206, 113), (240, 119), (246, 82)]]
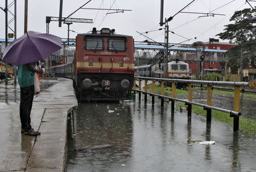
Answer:
[(53, 66), (52, 75), (72, 78), (80, 100), (128, 99), (134, 79), (134, 39), (93, 28), (76, 36), (75, 58)]

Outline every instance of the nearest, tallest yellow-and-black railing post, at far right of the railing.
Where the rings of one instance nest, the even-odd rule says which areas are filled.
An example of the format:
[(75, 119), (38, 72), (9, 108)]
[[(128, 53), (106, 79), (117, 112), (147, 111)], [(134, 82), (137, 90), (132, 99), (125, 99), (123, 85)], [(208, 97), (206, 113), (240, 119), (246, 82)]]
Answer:
[[(234, 86), (234, 111), (240, 111), (240, 87)], [(233, 120), (233, 131), (238, 131), (239, 129), (239, 116), (232, 116)]]

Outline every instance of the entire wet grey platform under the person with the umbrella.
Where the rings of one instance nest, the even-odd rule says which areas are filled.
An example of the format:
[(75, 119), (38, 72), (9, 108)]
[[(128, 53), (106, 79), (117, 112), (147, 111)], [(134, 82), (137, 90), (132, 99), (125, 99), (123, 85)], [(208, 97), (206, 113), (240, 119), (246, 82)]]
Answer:
[(49, 79), (36, 95), (31, 125), (40, 136), (20, 133), (19, 87), (0, 83), (0, 171), (64, 171), (67, 116), (77, 99), (71, 79)]

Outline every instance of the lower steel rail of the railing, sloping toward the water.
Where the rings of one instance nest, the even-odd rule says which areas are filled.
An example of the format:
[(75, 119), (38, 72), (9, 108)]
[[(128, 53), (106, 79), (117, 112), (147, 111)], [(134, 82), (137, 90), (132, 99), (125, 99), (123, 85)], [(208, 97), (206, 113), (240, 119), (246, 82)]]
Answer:
[(220, 108), (220, 107), (208, 106), (207, 104), (201, 104), (201, 103), (196, 103), (196, 102), (190, 102), (190, 101), (184, 100), (184, 99), (172, 98), (172, 97), (168, 97), (168, 96), (165, 96), (165, 95), (160, 95), (160, 94), (155, 94), (155, 93), (149, 93), (149, 92), (146, 92), (146, 91), (140, 91), (140, 90), (136, 90), (136, 89), (133, 89), (133, 91), (141, 92), (141, 93), (143, 93), (143, 94), (154, 95), (154, 96), (158, 96), (158, 97), (160, 97), (160, 98), (166, 98), (166, 99), (169, 99), (169, 100), (175, 100), (175, 101), (178, 101), (178, 102), (183, 102), (183, 103), (185, 103), (185, 104), (193, 104), (193, 105), (200, 106), (200, 107), (204, 107), (204, 108), (207, 108), (207, 109), (225, 112), (225, 113), (228, 113), (228, 114), (230, 114), (230, 115), (241, 116), (241, 112), (226, 110), (226, 109)]

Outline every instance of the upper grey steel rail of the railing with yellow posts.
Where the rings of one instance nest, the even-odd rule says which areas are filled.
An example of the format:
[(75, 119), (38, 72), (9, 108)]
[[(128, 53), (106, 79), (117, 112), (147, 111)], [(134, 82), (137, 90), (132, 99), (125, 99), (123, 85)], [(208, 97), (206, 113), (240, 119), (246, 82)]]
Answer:
[(183, 82), (183, 83), (198, 83), (204, 85), (218, 85), (218, 86), (239, 86), (249, 87), (249, 82), (230, 82), (230, 81), (200, 81), (189, 79), (166, 79), (166, 78), (151, 78), (151, 77), (134, 77), (137, 79), (146, 79), (150, 81), (167, 81), (167, 82)]

